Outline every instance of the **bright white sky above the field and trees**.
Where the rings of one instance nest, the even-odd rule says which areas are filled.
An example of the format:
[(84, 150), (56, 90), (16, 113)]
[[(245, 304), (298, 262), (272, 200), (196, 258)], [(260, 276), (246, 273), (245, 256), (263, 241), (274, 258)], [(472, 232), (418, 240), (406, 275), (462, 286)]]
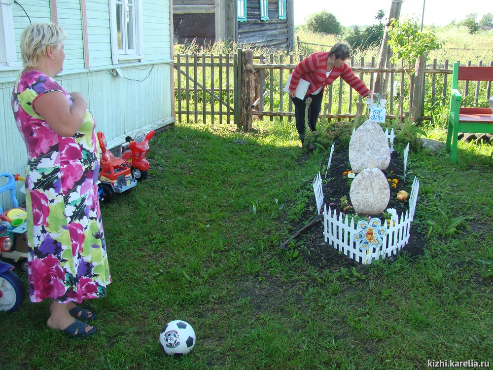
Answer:
[[(347, 1), (347, 2), (346, 2)], [(392, 0), (294, 0), (294, 24), (303, 24), (310, 14), (326, 10), (335, 15), (342, 26), (377, 24), (375, 16), (380, 9), (385, 12), (384, 23)], [(491, 0), (403, 0), (400, 16), (415, 17), (421, 22), (424, 3), (424, 25), (445, 26), (454, 19), (459, 22), (470, 13), (476, 13), (477, 21), (486, 13), (493, 13)], [(456, 3), (453, 5), (453, 3)]]

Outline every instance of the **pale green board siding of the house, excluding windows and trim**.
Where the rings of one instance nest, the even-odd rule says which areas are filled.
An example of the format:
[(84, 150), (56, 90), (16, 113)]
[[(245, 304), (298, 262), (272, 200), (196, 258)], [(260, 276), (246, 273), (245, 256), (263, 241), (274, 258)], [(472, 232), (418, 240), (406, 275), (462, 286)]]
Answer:
[[(64, 71), (55, 79), (67, 91), (79, 91), (96, 119), (96, 130), (103, 131), (108, 146), (124, 142), (126, 135), (155, 129), (174, 122), (172, 96), (172, 45), (170, 0), (142, 0), (143, 59), (113, 65), (111, 58), (109, 0), (86, 0), (89, 69), (84, 64), (84, 42), (80, 0), (57, 1), (58, 24), (68, 34), (65, 40)], [(51, 22), (49, 0), (31, 0), (24, 5), (33, 23)], [(24, 11), (12, 5), (18, 60), (20, 37), (29, 20)], [(118, 68), (118, 75), (115, 69)], [(21, 72), (19, 68), (0, 69), (0, 172), (24, 174), (27, 161), (25, 144), (13, 119), (10, 99)], [(0, 185), (4, 184), (0, 179)], [(20, 188), (20, 183), (18, 187)], [(24, 194), (17, 192), (19, 201)], [(0, 194), (3, 209), (11, 206), (8, 192)]]

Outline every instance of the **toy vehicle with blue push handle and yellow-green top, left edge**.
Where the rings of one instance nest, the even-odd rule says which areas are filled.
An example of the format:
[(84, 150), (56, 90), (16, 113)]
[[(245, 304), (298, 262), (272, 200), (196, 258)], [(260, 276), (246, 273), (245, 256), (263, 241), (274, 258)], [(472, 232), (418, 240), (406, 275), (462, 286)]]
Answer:
[(8, 179), (7, 184), (0, 186), (0, 193), (9, 190), (12, 200), (12, 209), (5, 212), (0, 207), (0, 250), (2, 258), (13, 259), (14, 262), (20, 262), (22, 270), (28, 271), (28, 243), (26, 237), (27, 231), (27, 213), (24, 208), (19, 207), (19, 202), (15, 197), (15, 181), (24, 181), (19, 175), (13, 176), (9, 173), (0, 173), (0, 177)]

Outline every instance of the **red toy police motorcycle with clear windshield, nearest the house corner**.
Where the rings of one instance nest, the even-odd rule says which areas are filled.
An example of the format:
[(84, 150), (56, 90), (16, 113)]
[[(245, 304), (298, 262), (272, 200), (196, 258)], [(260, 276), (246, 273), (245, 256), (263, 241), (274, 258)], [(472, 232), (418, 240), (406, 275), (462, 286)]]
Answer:
[(128, 149), (122, 155), (122, 159), (130, 167), (134, 179), (141, 181), (147, 178), (149, 162), (145, 159), (149, 151), (149, 140), (154, 137), (154, 130), (149, 131), (145, 136), (140, 135), (133, 140), (130, 136), (125, 138), (129, 143)]

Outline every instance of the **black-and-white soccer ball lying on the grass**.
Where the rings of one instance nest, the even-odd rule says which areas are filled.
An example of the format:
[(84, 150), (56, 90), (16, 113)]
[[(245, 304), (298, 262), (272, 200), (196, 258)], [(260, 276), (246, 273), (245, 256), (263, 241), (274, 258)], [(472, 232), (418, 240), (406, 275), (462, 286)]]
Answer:
[(159, 343), (167, 355), (186, 355), (195, 345), (195, 332), (187, 322), (174, 320), (164, 326)]

